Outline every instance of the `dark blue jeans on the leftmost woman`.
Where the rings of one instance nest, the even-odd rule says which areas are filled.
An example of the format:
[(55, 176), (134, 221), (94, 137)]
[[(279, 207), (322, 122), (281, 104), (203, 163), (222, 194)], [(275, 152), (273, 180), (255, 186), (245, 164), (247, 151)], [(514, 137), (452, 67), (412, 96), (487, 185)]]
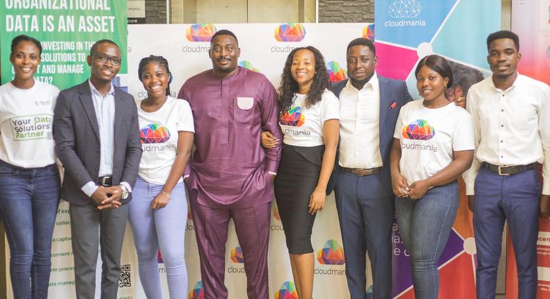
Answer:
[(55, 164), (19, 168), (0, 161), (0, 218), (10, 245), (14, 298), (47, 298), (59, 185)]

